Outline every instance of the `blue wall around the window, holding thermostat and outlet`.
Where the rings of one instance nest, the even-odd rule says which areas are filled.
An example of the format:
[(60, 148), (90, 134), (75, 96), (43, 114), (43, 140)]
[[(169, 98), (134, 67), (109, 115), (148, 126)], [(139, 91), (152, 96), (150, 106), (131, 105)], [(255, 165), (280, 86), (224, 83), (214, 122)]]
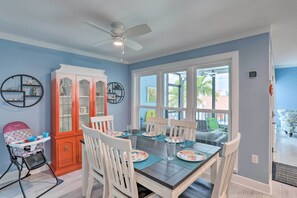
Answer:
[[(129, 70), (176, 61), (239, 51), (239, 175), (268, 184), (269, 182), (269, 34), (203, 47), (129, 65)], [(248, 72), (257, 71), (256, 79)], [(259, 164), (251, 163), (251, 155)]]

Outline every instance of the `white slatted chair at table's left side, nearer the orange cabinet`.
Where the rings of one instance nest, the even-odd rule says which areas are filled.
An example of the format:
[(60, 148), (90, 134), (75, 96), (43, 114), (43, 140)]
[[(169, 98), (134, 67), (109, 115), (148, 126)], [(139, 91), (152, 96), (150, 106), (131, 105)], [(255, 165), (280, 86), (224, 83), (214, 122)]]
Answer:
[(100, 144), (98, 130), (82, 125), (85, 149), (89, 162), (89, 180), (86, 197), (91, 197), (94, 179), (103, 184), (103, 197), (108, 196), (108, 182), (104, 175), (103, 152)]

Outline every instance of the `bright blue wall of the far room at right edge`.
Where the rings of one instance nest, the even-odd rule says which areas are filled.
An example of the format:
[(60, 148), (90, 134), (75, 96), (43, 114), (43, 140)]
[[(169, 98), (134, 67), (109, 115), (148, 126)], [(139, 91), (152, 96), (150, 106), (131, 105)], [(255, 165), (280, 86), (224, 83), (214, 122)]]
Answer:
[[(275, 69), (275, 110), (297, 110), (297, 67)], [(279, 127), (279, 115), (276, 114)]]

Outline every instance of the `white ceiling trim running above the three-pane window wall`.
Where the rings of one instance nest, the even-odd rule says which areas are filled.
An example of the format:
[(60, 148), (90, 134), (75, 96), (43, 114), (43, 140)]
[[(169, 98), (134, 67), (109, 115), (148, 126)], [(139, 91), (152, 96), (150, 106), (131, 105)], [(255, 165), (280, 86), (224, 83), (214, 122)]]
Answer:
[(151, 59), (155, 59), (155, 58), (160, 58), (160, 57), (163, 57), (163, 56), (168, 56), (168, 55), (181, 53), (181, 52), (185, 52), (185, 51), (190, 51), (190, 50), (194, 50), (194, 49), (198, 49), (198, 48), (202, 48), (202, 47), (207, 47), (207, 46), (211, 46), (211, 45), (216, 45), (216, 44), (220, 44), (220, 43), (225, 43), (225, 42), (229, 42), (229, 41), (233, 41), (233, 40), (238, 40), (238, 39), (242, 39), (242, 38), (246, 38), (246, 37), (251, 37), (251, 36), (255, 36), (255, 35), (259, 35), (259, 34), (263, 34), (263, 33), (270, 33), (270, 32), (271, 32), (271, 26), (265, 26), (265, 27), (262, 27), (262, 28), (257, 28), (255, 30), (248, 31), (248, 32), (243, 32), (243, 33), (240, 33), (240, 34), (235, 34), (235, 35), (231, 35), (231, 36), (227, 36), (227, 37), (223, 37), (223, 38), (203, 42), (203, 43), (200, 43), (200, 44), (196, 45), (195, 47), (181, 48), (181, 49), (178, 49), (178, 50), (172, 50), (172, 51), (170, 51), (168, 53), (165, 53), (165, 54), (161, 54), (160, 56), (151, 57), (149, 59), (140, 59), (140, 60), (138, 60), (136, 62), (132, 62), (130, 64), (137, 63), (137, 62), (142, 62), (142, 61), (147, 61), (147, 60), (151, 60)]

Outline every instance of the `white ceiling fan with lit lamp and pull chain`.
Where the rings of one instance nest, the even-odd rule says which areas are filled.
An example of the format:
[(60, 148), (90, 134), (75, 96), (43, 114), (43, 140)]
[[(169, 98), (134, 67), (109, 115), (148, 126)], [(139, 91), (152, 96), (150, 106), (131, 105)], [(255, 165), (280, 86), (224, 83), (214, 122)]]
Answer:
[(152, 31), (147, 24), (136, 25), (134, 27), (126, 29), (123, 23), (114, 22), (111, 24), (112, 30), (107, 30), (89, 21), (85, 21), (84, 23), (111, 36), (111, 38), (107, 40), (103, 40), (99, 43), (96, 43), (94, 47), (98, 47), (100, 45), (112, 42), (115, 46), (122, 46), (122, 53), (124, 53), (124, 46), (127, 46), (135, 51), (141, 50), (142, 45), (137, 43), (136, 41), (131, 40), (130, 37), (144, 35)]

